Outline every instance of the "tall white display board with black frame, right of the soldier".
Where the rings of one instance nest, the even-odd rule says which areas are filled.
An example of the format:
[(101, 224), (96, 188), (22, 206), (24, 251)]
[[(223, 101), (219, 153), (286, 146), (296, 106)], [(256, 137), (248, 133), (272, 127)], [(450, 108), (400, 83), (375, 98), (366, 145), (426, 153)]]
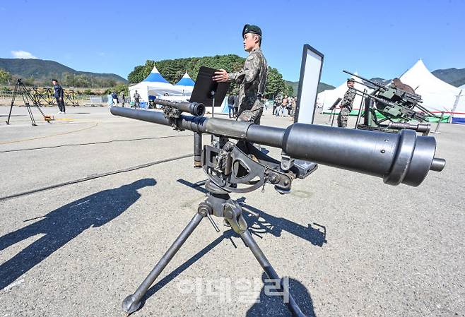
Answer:
[(323, 57), (322, 53), (309, 44), (304, 45), (294, 122), (313, 124), (318, 84), (322, 76)]

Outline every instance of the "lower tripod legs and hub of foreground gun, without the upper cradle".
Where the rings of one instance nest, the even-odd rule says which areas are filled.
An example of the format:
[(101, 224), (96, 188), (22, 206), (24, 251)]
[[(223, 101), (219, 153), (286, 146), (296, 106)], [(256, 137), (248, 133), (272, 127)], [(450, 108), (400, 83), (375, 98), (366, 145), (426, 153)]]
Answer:
[(137, 311), (140, 308), (143, 296), (146, 294), (153, 282), (155, 282), (160, 273), (162, 273), (162, 271), (166, 268), (168, 263), (170, 263), (177, 251), (181, 249), (184, 242), (187, 241), (187, 238), (189, 238), (192, 232), (194, 232), (194, 229), (196, 229), (204, 217), (208, 217), (208, 220), (210, 220), (211, 225), (213, 225), (213, 228), (216, 230), (216, 232), (220, 232), (218, 225), (216, 225), (215, 221), (211, 217), (214, 215), (216, 217), (223, 217), (223, 219), (231, 226), (232, 230), (240, 235), (242, 241), (244, 241), (245, 245), (248, 246), (250, 251), (252, 251), (255, 258), (260, 263), (261, 268), (263, 268), (266, 275), (268, 275), (269, 279), (272, 280), (275, 285), (279, 285), (279, 287), (276, 289), (276, 294), (279, 294), (281, 297), (283, 297), (283, 302), (288, 305), (288, 308), (293, 313), (293, 315), (304, 317), (305, 314), (302, 313), (297, 302), (289, 293), (288, 283), (283, 282), (281, 277), (279, 277), (271, 263), (264, 255), (263, 251), (261, 251), (259, 248), (257, 241), (255, 241), (255, 239), (252, 237), (252, 234), (250, 234), (249, 229), (247, 229), (247, 222), (242, 216), (242, 208), (239, 203), (233, 201), (230, 198), (228, 192), (223, 191), (223, 189), (216, 186), (216, 184), (211, 181), (206, 182), (205, 188), (210, 193), (209, 196), (205, 201), (199, 204), (197, 213), (194, 215), (192, 220), (187, 224), (184, 230), (182, 230), (181, 234), (179, 234), (179, 236), (175, 239), (170, 248), (155, 265), (151, 273), (148, 274), (146, 279), (143, 280), (141, 285), (139, 285), (139, 287), (136, 289), (136, 292), (124, 299), (122, 303), (123, 311), (129, 315), (130, 313), (134, 313), (134, 311)]

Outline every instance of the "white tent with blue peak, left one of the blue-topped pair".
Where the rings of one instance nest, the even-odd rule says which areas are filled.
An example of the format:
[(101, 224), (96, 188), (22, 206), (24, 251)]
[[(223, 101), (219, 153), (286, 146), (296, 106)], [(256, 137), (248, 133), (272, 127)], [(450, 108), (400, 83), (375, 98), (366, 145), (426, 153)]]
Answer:
[(161, 76), (156, 66), (147, 78), (136, 85), (129, 86), (129, 96), (134, 101), (134, 93), (139, 92), (141, 95), (141, 102), (148, 102), (148, 96), (164, 96), (168, 94), (170, 96), (182, 96), (182, 89), (167, 82), (163, 76)]

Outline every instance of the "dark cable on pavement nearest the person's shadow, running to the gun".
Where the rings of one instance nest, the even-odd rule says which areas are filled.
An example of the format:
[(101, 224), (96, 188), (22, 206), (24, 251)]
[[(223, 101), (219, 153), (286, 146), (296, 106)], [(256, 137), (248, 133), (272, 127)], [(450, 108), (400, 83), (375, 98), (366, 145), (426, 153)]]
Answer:
[(136, 169), (143, 169), (145, 167), (151, 167), (153, 165), (158, 165), (160, 163), (171, 162), (171, 161), (175, 161), (175, 160), (181, 160), (183, 158), (193, 157), (193, 156), (194, 156), (194, 154), (186, 154), (186, 155), (171, 157), (171, 158), (158, 160), (158, 161), (154, 161), (154, 162), (148, 162), (146, 164), (136, 165), (136, 166), (133, 166), (133, 167), (127, 167), (125, 169), (118, 169), (117, 171), (113, 171), (113, 172), (107, 172), (107, 173), (102, 173), (102, 174), (93, 174), (93, 175), (90, 175), (88, 177), (84, 177), (83, 179), (75, 179), (73, 181), (66, 181), (65, 183), (61, 183), (61, 184), (55, 184), (55, 185), (42, 187), (42, 189), (33, 189), (33, 190), (30, 190), (30, 191), (23, 191), (22, 193), (14, 193), (13, 195), (0, 197), (0, 201), (6, 201), (7, 199), (17, 198), (17, 197), (25, 196), (25, 195), (30, 195), (31, 193), (38, 193), (40, 191), (47, 191), (49, 189), (57, 189), (59, 187), (63, 187), (63, 186), (66, 186), (66, 185), (77, 184), (77, 183), (81, 183), (83, 181), (90, 181), (92, 179), (98, 179), (100, 177), (106, 177), (106, 176), (119, 174), (119, 173), (124, 173), (124, 172), (131, 172), (131, 171), (134, 171)]

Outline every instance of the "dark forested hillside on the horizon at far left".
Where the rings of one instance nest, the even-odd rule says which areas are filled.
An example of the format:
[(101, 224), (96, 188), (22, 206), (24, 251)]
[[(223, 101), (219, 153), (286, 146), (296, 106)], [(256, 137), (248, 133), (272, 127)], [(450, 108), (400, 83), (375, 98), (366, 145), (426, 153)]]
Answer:
[(43, 59), (0, 59), (0, 68), (11, 73), (13, 77), (28, 79), (35, 84), (49, 84), (51, 78), (64, 81), (70, 78), (78, 78), (88, 85), (100, 83), (127, 83), (127, 80), (114, 73), (91, 73), (88, 71), (76, 71), (73, 68), (59, 64), (57, 61)]

